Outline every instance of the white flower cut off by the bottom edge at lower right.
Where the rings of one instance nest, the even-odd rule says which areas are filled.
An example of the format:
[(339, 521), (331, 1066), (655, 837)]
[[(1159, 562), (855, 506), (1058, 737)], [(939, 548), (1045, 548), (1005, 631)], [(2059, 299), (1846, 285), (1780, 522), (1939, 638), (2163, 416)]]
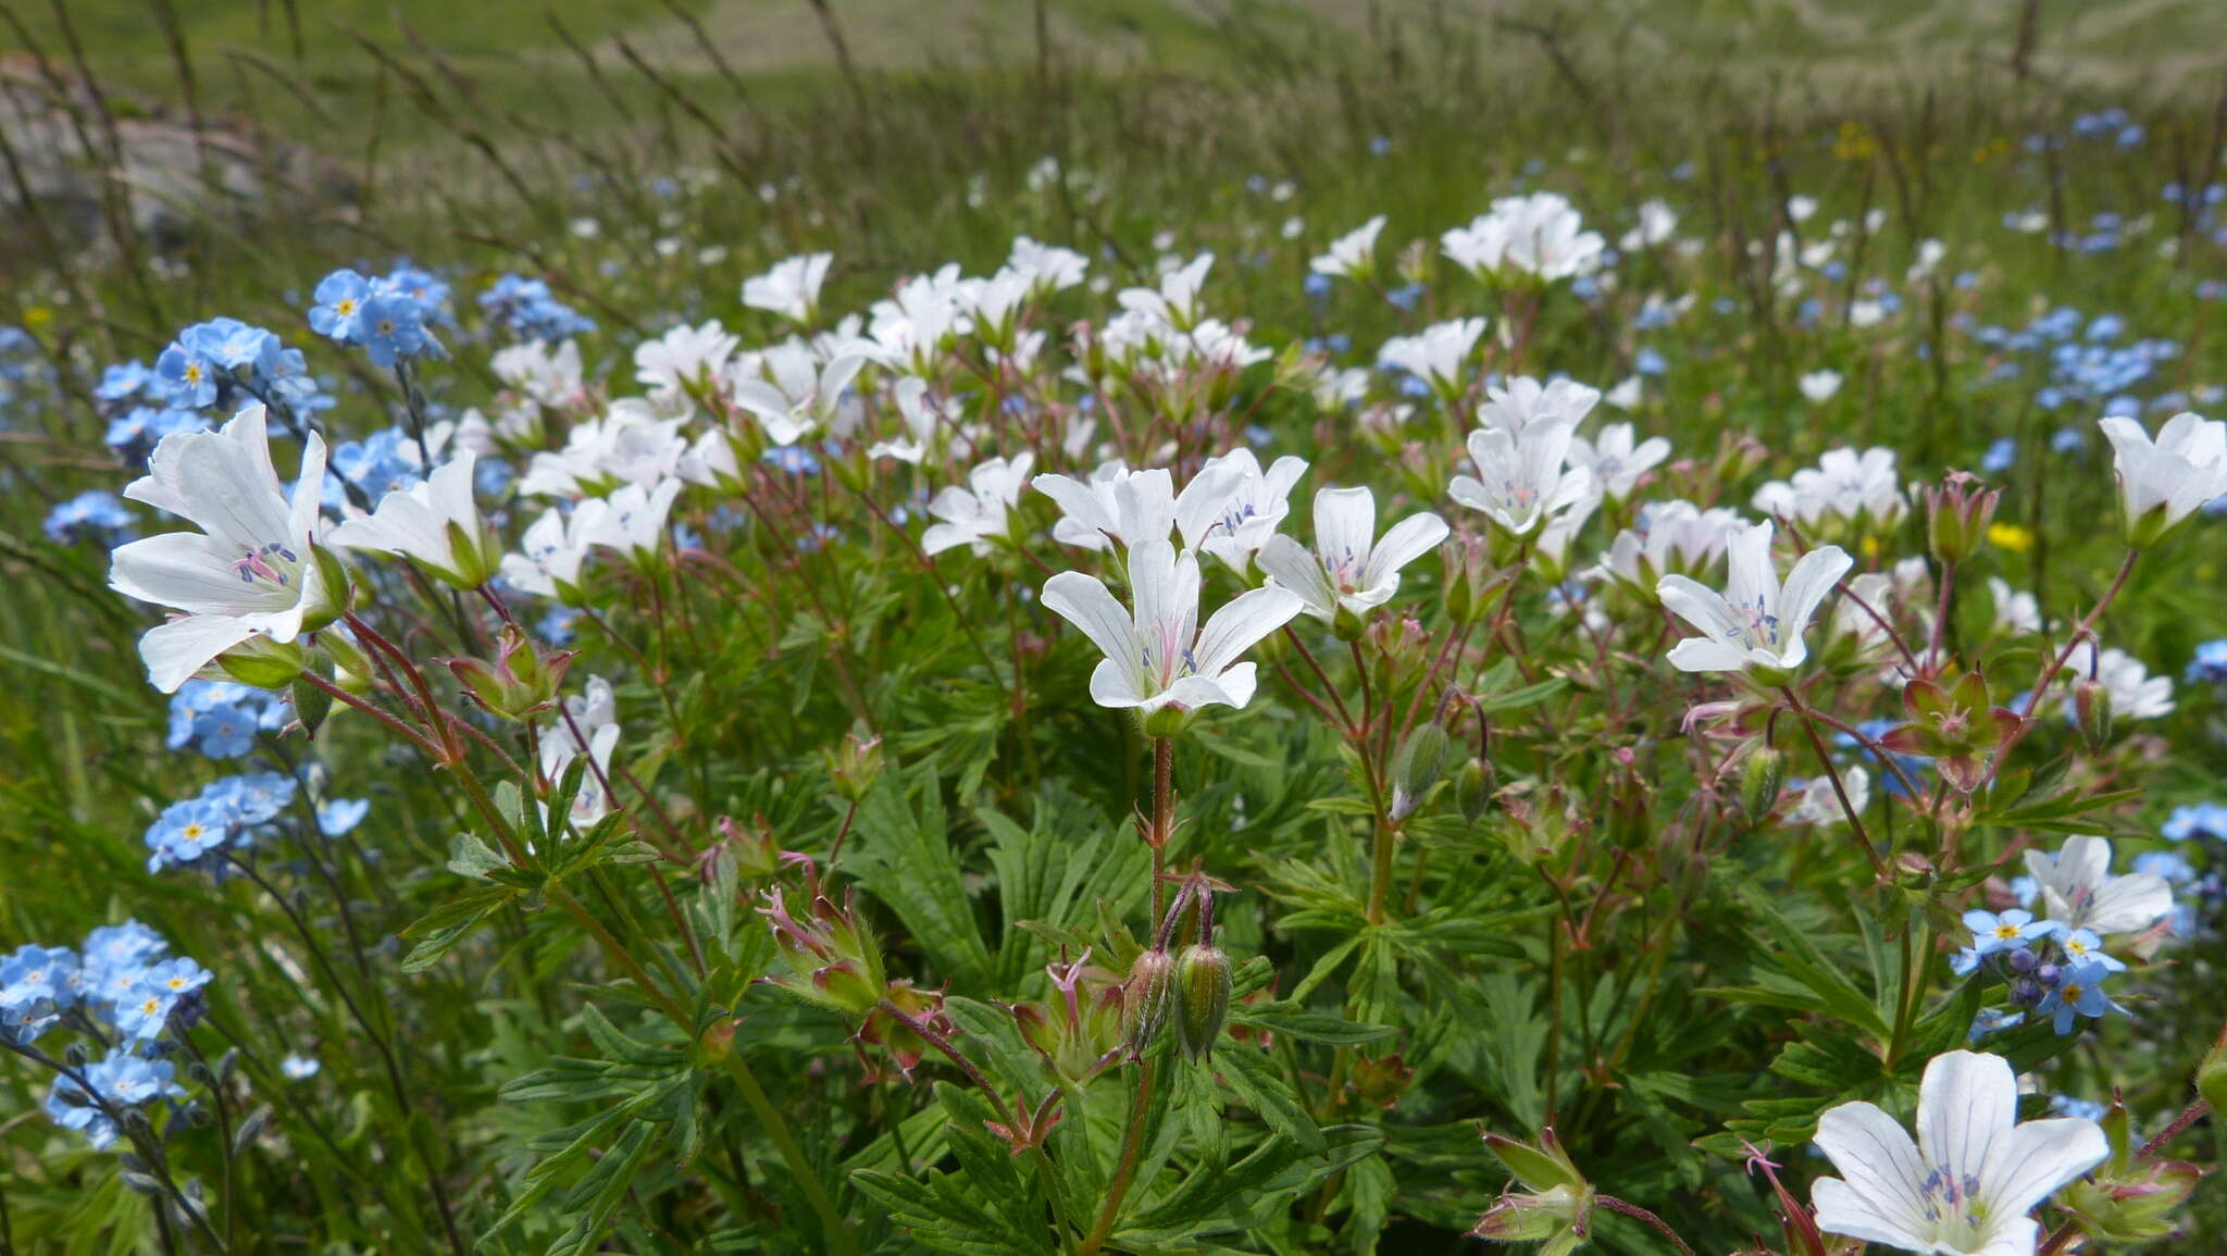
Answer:
[(2018, 1122), (2018, 1078), (2002, 1056), (1949, 1051), (1917, 1087), (1917, 1140), (1868, 1102), (1817, 1120), (1817, 1147), (1840, 1169), (1811, 1187), (1826, 1234), (1920, 1256), (2033, 1256), (2027, 1216), (2111, 1154), (2087, 1118)]

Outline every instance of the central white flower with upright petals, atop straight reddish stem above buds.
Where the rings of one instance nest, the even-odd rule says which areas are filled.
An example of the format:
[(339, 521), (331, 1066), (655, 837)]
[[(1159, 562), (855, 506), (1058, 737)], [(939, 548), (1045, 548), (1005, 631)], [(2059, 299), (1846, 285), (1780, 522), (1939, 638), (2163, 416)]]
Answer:
[(1198, 559), (1158, 539), (1129, 550), (1129, 588), (1134, 615), (1096, 577), (1060, 572), (1044, 581), (1044, 606), (1105, 652), (1091, 673), (1091, 699), (1145, 715), (1252, 701), (1254, 664), (1240, 664), (1238, 655), (1305, 606), (1287, 588), (1254, 588), (1200, 630)]

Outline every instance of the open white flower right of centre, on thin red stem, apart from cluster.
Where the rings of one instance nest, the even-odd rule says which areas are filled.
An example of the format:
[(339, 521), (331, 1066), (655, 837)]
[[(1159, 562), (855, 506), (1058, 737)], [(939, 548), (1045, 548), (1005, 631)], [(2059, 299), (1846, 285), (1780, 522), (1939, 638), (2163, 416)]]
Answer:
[(1655, 586), (1661, 604), (1701, 630), (1670, 648), (1670, 666), (1681, 673), (1739, 673), (1766, 668), (1791, 673), (1808, 659), (1808, 630), (1817, 606), (1848, 575), (1855, 559), (1840, 546), (1811, 550), (1795, 561), (1779, 588), (1770, 561), (1770, 523), (1744, 523), (1726, 539), (1726, 586), (1715, 592), (1688, 577), (1664, 577)]

